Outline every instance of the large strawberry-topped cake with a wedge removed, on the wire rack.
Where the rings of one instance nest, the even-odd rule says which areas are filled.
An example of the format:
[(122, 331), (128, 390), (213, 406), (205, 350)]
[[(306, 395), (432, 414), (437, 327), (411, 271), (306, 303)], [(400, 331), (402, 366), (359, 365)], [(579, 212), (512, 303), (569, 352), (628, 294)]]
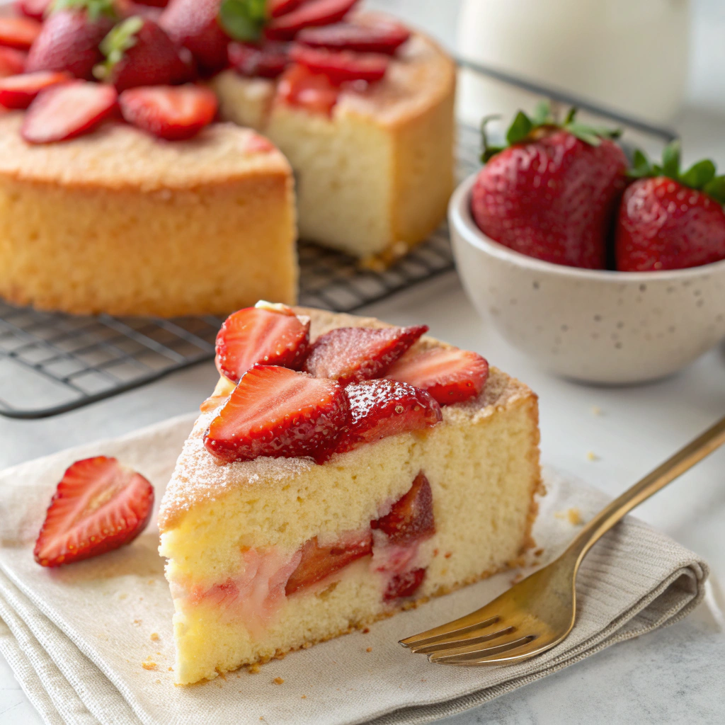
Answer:
[(164, 316), (294, 302), (292, 172), (273, 144), (305, 238), (383, 265), (425, 239), (452, 189), (454, 68), (356, 5), (55, 0), (0, 17), (0, 296)]

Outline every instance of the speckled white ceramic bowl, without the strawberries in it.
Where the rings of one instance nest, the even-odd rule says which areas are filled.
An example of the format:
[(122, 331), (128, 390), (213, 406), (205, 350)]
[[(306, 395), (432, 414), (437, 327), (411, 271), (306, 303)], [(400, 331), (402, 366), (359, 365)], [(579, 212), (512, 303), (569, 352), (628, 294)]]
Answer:
[(471, 217), (476, 175), (448, 210), (458, 274), (502, 336), (553, 373), (631, 384), (676, 372), (725, 338), (725, 260), (665, 272), (582, 270), (526, 257)]

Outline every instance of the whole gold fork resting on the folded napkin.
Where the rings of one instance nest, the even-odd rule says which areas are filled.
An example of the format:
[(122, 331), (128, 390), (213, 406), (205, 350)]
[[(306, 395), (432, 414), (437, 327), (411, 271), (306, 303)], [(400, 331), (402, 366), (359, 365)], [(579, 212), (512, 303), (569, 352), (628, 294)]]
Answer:
[(725, 418), (613, 500), (548, 566), (485, 607), (400, 644), (431, 662), (467, 666), (508, 665), (550, 650), (574, 626), (576, 573), (589, 549), (635, 506), (724, 443)]

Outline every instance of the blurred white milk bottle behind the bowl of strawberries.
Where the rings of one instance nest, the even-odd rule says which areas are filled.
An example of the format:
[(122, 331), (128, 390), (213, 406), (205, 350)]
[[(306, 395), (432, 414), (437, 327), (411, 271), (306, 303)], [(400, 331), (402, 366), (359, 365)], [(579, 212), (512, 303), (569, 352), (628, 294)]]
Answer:
[[(666, 122), (684, 97), (689, 0), (463, 0), (459, 54), (602, 106)], [(462, 74), (470, 123), (531, 107), (529, 94)]]

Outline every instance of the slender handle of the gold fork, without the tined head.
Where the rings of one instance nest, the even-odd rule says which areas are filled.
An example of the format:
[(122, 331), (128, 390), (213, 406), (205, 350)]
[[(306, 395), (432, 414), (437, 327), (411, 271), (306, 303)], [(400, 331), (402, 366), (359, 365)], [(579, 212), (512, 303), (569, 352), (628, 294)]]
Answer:
[(625, 491), (600, 513), (597, 513), (592, 521), (589, 521), (579, 532), (579, 536), (573, 540), (568, 553), (576, 555), (577, 564), (581, 562), (589, 549), (635, 506), (639, 506), (642, 501), (663, 489), (678, 476), (682, 476), (682, 473), (688, 471), (695, 463), (699, 463), (722, 444), (725, 444), (725, 418), (708, 428), (702, 435), (697, 436), (694, 441), (668, 458), (652, 473), (647, 473), (644, 479), (638, 481), (631, 489)]

